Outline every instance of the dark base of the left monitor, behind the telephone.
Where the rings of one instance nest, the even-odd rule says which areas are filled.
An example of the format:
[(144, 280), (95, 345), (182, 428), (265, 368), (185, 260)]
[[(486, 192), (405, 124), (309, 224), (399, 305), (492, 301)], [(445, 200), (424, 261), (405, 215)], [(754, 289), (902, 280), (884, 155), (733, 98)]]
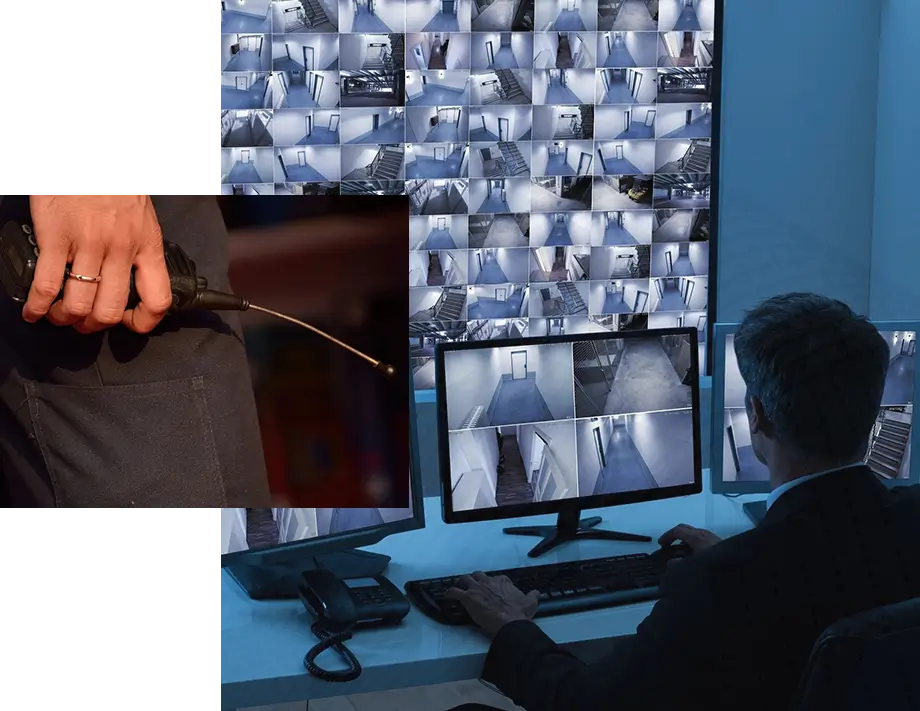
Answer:
[(325, 568), (340, 580), (373, 578), (383, 575), (390, 556), (351, 550), (315, 556), (291, 556), (279, 562), (266, 562), (262, 556), (247, 556), (225, 566), (253, 600), (296, 600), (297, 584), (307, 570)]

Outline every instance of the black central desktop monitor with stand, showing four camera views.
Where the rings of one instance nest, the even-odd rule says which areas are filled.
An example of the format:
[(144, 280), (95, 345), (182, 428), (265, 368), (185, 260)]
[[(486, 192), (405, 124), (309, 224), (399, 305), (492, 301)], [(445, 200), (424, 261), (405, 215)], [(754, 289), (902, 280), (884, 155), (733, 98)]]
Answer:
[(702, 490), (696, 328), (463, 341), (436, 353), (443, 518), (557, 514), (575, 538), (647, 541), (580, 512)]

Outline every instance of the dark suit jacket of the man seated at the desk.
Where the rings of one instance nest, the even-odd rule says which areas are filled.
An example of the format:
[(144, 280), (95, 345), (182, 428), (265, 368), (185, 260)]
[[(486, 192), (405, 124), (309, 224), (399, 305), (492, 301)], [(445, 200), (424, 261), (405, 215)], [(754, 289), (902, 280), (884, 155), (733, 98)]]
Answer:
[(483, 678), (528, 711), (791, 708), (831, 623), (920, 596), (920, 486), (867, 467), (782, 494), (757, 528), (671, 565), (608, 660), (585, 664), (532, 622), (492, 643)]

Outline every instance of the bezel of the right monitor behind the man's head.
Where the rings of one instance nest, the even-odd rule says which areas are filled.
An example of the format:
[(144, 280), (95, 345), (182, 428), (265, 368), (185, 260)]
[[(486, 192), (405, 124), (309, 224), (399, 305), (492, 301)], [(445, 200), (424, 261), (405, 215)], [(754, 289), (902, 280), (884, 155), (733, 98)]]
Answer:
[[(920, 321), (872, 321), (870, 322), (879, 331), (913, 331), (920, 335)], [(712, 402), (710, 406), (709, 423), (709, 483), (713, 494), (727, 494), (729, 496), (745, 496), (750, 494), (768, 495), (772, 491), (769, 481), (725, 481), (722, 478), (723, 465), (723, 434), (722, 427), (725, 413), (725, 340), (733, 335), (740, 326), (739, 323), (717, 323), (713, 329), (713, 340), (710, 346), (715, 353), (712, 371)], [(914, 406), (920, 402), (920, 377), (914, 376)], [(916, 428), (911, 422), (911, 445), (914, 444)], [(911, 446), (910, 474), (907, 479), (883, 479), (880, 482), (888, 487), (910, 486), (920, 484), (920, 448)]]

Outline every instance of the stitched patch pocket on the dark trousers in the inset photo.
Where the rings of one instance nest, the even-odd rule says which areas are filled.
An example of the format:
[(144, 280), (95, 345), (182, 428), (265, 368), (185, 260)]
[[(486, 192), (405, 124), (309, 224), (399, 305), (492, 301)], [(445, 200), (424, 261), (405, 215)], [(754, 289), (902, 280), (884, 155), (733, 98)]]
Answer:
[(25, 386), (56, 508), (213, 511), (226, 503), (204, 377)]

